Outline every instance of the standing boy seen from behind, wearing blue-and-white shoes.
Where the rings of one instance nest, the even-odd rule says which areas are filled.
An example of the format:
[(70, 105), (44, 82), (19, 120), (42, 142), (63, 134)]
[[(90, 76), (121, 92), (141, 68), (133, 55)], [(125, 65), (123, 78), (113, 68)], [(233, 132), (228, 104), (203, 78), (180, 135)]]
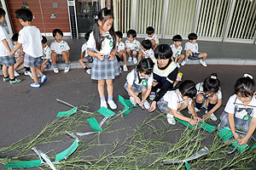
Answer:
[(30, 84), (32, 88), (40, 88), (37, 72), (41, 77), (41, 84), (47, 81), (47, 77), (40, 70), (41, 57), (43, 55), (42, 36), (36, 26), (32, 26), (33, 14), (28, 8), (19, 8), (15, 11), (16, 18), (19, 19), (23, 28), (19, 31), (19, 39), (11, 54), (21, 46), (25, 53), (24, 66), (30, 67), (34, 82)]

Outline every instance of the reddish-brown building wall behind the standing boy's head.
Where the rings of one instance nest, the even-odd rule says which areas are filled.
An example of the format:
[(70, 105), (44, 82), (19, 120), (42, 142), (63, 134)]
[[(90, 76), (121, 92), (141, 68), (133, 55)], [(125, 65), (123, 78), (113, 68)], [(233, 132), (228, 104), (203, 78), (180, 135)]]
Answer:
[[(40, 31), (52, 32), (55, 28), (61, 29), (63, 32), (70, 32), (69, 20), (68, 20), (68, 10), (67, 10), (67, 0), (8, 0), (9, 11), (11, 14), (11, 20), (13, 22), (15, 32), (20, 31), (22, 26), (19, 20), (15, 18), (15, 10), (21, 8), (22, 3), (27, 3), (35, 19), (32, 21), (34, 26), (37, 26)], [(44, 22), (42, 20), (42, 14), (40, 9), (40, 3), (43, 11)], [(57, 8), (53, 8), (53, 3), (58, 3)], [(56, 18), (51, 19), (51, 14), (55, 13)]]

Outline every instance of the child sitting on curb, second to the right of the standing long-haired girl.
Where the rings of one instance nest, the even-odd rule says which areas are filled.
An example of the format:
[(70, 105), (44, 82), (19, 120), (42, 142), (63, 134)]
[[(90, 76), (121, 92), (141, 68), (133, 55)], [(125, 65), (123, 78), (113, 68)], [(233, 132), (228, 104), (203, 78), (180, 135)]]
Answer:
[[(133, 59), (133, 64), (137, 64), (137, 54), (141, 46), (140, 42), (137, 41), (137, 32), (135, 30), (127, 31), (127, 40), (125, 41), (125, 51), (128, 54), (128, 61), (131, 62)], [(133, 56), (133, 58), (131, 58)]]

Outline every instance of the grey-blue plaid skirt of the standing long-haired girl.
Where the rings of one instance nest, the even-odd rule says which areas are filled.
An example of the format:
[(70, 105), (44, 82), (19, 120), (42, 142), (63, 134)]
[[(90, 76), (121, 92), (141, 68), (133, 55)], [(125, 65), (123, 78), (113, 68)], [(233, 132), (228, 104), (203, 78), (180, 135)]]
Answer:
[(115, 56), (113, 60), (109, 60), (108, 55), (105, 55), (102, 61), (96, 57), (93, 59), (91, 68), (91, 79), (93, 80), (114, 79), (119, 76), (120, 72), (120, 65)]

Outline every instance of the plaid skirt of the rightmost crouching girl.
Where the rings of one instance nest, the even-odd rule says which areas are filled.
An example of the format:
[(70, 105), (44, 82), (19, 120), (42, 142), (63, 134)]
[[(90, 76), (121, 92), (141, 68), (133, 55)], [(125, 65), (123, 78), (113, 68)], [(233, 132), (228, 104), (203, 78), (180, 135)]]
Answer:
[[(244, 121), (244, 120), (234, 116), (236, 130), (247, 133), (251, 120), (252, 120), (252, 118), (248, 121)], [(223, 111), (220, 116), (220, 127), (221, 127), (221, 129), (224, 127), (230, 127), (229, 114), (225, 111)], [(241, 136), (245, 136), (245, 134), (241, 134)]]

